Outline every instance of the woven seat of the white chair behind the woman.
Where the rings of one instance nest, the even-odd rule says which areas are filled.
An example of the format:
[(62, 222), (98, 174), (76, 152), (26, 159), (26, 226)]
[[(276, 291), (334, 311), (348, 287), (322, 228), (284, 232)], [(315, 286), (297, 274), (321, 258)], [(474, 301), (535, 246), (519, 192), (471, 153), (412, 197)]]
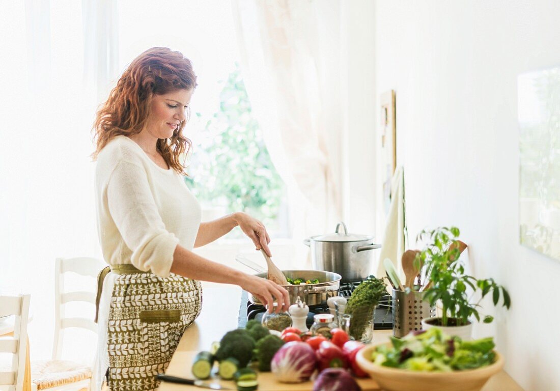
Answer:
[(90, 379), (91, 367), (74, 361), (44, 360), (31, 362), (31, 381), (38, 390), (60, 387)]

